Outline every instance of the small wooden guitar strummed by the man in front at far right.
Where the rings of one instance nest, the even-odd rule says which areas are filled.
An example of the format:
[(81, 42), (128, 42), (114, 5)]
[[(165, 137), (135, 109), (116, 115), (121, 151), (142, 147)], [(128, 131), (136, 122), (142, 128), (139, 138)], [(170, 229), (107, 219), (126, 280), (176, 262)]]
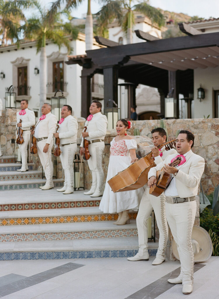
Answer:
[[(170, 163), (169, 166), (177, 166), (178, 164), (180, 164), (180, 162), (181, 159), (178, 157), (176, 160)], [(157, 171), (156, 177), (157, 183), (150, 187), (149, 193), (153, 196), (160, 196), (169, 186), (171, 182), (171, 175), (169, 173), (166, 173), (164, 171), (164, 167), (162, 167), (161, 170)]]

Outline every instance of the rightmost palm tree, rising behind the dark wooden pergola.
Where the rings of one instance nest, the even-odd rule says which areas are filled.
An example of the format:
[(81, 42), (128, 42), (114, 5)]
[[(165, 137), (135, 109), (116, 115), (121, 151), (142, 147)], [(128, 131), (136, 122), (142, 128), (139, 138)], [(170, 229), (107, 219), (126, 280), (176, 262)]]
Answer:
[(147, 16), (152, 25), (156, 24), (163, 26), (165, 24), (162, 13), (149, 5), (149, 0), (133, 5), (134, 0), (105, 0), (104, 6), (98, 13), (99, 32), (101, 35), (106, 31), (107, 25), (112, 22), (113, 19), (117, 19), (119, 25), (122, 26), (122, 30), (127, 35), (127, 43), (132, 43), (132, 28), (135, 24), (134, 11), (138, 11)]

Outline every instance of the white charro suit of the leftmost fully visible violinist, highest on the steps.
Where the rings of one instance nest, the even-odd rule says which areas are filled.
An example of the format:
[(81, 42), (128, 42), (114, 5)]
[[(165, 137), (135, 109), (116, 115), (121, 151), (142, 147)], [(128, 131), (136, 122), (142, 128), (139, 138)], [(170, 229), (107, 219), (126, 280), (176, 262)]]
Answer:
[[(25, 109), (24, 115), (19, 115), (19, 112), (16, 113), (17, 123), (22, 120), (22, 126), (20, 127), (23, 130), (23, 139), (24, 142), (22, 144), (18, 144), (18, 147), (21, 152), (21, 160), (22, 160), (22, 170), (28, 170), (27, 158), (28, 152), (27, 147), (30, 141), (30, 128), (35, 125), (35, 114), (33, 111), (28, 108)], [(17, 136), (16, 136), (17, 137)]]

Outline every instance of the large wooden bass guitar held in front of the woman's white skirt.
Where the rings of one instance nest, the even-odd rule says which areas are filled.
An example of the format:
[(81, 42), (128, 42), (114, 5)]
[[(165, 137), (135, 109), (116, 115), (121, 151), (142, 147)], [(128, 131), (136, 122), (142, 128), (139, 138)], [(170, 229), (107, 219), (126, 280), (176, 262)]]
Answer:
[[(163, 144), (160, 144), (158, 148), (165, 145), (165, 150), (169, 150), (176, 146), (176, 139), (172, 139)], [(169, 145), (168, 145), (169, 144)], [(143, 187), (147, 183), (147, 174), (150, 168), (155, 167), (152, 152), (148, 152), (144, 157), (135, 161), (129, 167), (117, 173), (107, 183), (111, 187), (112, 191), (121, 192), (136, 190)]]

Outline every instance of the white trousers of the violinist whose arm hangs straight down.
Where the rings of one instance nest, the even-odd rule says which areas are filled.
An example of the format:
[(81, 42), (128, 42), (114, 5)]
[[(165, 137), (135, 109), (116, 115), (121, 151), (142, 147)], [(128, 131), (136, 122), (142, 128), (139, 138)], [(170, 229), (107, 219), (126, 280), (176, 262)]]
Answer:
[(51, 144), (49, 145), (48, 151), (43, 152), (43, 148), (45, 147), (46, 142), (47, 142), (47, 139), (37, 141), (36, 147), (37, 147), (37, 152), (39, 155), (40, 162), (42, 164), (42, 168), (45, 172), (46, 184), (54, 187), (54, 184), (52, 181), (52, 176), (53, 176), (53, 164), (52, 164), (53, 140), (51, 141)]

